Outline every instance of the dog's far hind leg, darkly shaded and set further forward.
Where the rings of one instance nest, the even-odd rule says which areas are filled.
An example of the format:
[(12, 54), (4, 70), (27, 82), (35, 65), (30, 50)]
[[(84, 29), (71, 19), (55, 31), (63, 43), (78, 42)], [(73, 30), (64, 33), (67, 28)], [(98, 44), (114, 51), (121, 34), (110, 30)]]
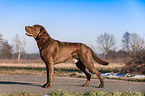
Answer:
[(89, 82), (90, 82), (90, 78), (91, 78), (91, 73), (87, 70), (87, 68), (84, 66), (84, 64), (83, 64), (82, 61), (79, 60), (75, 64), (87, 76), (87, 81), (86, 81), (85, 84), (83, 84), (83, 86), (88, 86), (89, 85)]

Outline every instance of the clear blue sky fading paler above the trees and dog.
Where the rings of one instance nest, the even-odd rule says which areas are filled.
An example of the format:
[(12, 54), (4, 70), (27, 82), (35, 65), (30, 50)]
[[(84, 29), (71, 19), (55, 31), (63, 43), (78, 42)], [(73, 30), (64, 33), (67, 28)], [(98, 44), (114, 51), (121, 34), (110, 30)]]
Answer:
[(35, 40), (25, 35), (25, 26), (34, 24), (54, 39), (96, 47), (97, 36), (108, 32), (121, 49), (125, 32), (145, 35), (145, 0), (0, 0), (0, 33), (11, 45), (18, 34), (26, 52), (38, 52)]

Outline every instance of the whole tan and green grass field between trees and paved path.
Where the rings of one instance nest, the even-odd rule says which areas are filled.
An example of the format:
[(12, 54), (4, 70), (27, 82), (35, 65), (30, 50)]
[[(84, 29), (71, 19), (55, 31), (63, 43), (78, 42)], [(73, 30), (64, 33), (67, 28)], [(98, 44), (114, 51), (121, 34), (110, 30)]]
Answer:
[[(5, 62), (5, 63), (3, 63)], [(4, 74), (19, 74), (19, 75), (46, 75), (45, 64), (40, 61), (1, 61), (0, 62), (0, 75)], [(11, 62), (11, 63), (10, 63)], [(108, 66), (103, 66), (98, 63), (94, 63), (94, 66), (101, 73), (107, 72), (120, 72), (121, 68), (125, 66), (124, 63), (110, 63)], [(62, 77), (79, 77), (86, 78), (85, 75), (79, 74), (81, 71), (76, 67), (74, 63), (60, 63), (54, 65), (54, 76)], [(92, 75), (91, 78), (97, 78), (96, 75)], [(117, 80), (126, 80), (126, 81), (139, 81), (145, 82), (145, 78), (134, 79), (134, 78), (125, 78), (125, 77), (104, 77), (107, 79), (117, 79)]]

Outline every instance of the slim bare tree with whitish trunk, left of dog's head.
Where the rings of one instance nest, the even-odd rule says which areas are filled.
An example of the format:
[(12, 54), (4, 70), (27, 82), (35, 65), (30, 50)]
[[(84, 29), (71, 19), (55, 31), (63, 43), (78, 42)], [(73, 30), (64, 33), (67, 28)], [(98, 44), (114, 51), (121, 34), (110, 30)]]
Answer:
[(18, 34), (16, 34), (13, 41), (14, 41), (14, 45), (15, 45), (15, 48), (16, 48), (16, 53), (18, 54), (18, 61), (20, 61), (21, 53), (24, 52), (24, 48), (25, 48), (25, 45), (26, 45), (25, 39), (23, 41), (21, 41)]

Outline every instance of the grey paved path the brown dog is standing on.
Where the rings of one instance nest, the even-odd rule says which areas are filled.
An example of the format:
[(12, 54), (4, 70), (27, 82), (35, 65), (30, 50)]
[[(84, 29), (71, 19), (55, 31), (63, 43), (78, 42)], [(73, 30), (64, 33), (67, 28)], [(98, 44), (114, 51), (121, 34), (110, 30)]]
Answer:
[(97, 88), (99, 80), (91, 79), (88, 87), (81, 84), (86, 82), (85, 78), (54, 77), (53, 86), (50, 89), (41, 86), (46, 81), (46, 76), (38, 75), (0, 75), (0, 92), (29, 92), (47, 94), (55, 90), (66, 90), (68, 92), (85, 93), (91, 90), (104, 91), (141, 91), (145, 92), (145, 82), (127, 82), (120, 80), (105, 79), (105, 88)]

